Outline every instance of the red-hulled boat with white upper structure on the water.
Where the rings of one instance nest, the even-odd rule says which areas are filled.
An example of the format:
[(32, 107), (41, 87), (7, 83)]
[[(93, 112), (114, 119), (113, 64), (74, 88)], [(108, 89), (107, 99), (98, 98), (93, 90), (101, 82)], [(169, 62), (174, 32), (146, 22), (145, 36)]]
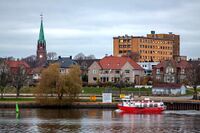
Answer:
[(155, 102), (149, 98), (134, 100), (130, 96), (125, 96), (125, 98), (122, 98), (122, 102), (118, 104), (118, 108), (126, 113), (156, 114), (163, 112), (166, 106), (162, 101)]

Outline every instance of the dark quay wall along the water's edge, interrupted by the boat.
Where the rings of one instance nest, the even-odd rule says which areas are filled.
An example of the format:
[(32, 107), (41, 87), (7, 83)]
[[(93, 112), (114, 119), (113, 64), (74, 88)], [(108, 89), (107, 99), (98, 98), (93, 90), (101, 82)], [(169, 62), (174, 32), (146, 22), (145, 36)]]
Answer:
[[(166, 110), (200, 110), (200, 101), (164, 101), (167, 106)], [(39, 104), (35, 101), (18, 102), (19, 108), (22, 109), (117, 109), (118, 102), (73, 102), (62, 105)], [(0, 102), (0, 109), (15, 108), (16, 102)]]

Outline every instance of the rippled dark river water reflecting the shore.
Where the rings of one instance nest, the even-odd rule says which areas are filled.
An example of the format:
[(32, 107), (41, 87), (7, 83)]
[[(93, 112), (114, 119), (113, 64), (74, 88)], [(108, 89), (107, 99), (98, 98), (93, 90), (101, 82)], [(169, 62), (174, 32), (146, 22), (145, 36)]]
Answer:
[[(17, 117), (17, 118), (16, 118)], [(0, 133), (198, 133), (200, 111), (122, 114), (105, 109), (0, 109)]]

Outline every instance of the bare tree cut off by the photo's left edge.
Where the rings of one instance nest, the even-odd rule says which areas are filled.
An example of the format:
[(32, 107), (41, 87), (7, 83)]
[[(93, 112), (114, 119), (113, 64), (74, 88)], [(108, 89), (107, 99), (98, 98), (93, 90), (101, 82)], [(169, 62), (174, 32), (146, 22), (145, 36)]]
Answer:
[(5, 62), (0, 63), (1, 98), (3, 98), (4, 89), (10, 83), (10, 80), (11, 80), (11, 73), (8, 65)]

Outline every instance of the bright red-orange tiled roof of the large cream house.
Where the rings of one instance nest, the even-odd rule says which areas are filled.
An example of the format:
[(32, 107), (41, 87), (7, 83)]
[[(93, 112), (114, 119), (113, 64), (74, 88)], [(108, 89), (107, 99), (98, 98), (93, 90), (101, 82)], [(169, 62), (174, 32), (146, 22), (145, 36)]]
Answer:
[(129, 57), (106, 56), (99, 61), (103, 69), (121, 69), (127, 62), (134, 69), (143, 70), (143, 68)]

